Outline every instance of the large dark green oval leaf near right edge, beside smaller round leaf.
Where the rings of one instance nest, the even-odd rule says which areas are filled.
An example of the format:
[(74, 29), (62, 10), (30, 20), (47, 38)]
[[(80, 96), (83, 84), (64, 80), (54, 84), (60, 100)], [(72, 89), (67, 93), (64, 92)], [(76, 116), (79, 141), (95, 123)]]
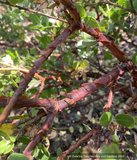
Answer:
[(133, 128), (135, 125), (134, 118), (128, 114), (119, 114), (115, 117), (117, 123), (127, 128)]

